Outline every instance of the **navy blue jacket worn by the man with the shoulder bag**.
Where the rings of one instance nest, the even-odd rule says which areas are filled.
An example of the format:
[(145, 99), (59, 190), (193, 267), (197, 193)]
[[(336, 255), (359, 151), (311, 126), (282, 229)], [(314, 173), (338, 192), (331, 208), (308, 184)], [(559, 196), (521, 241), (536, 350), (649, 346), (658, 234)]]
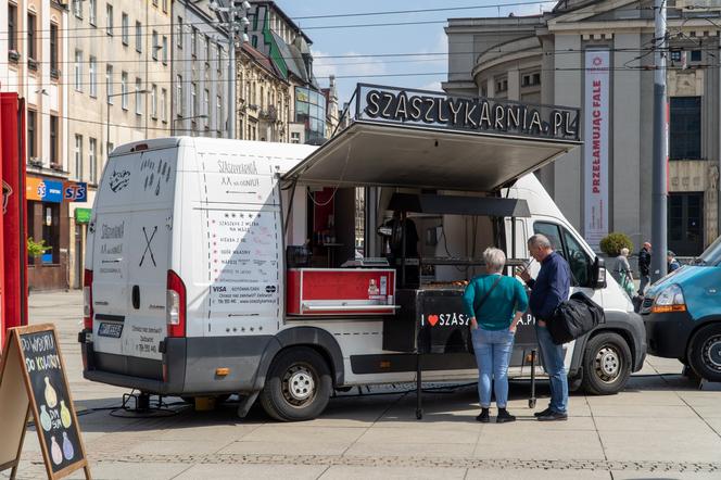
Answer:
[(535, 280), (527, 282), (531, 287), (529, 306), (536, 319), (547, 320), (561, 302), (568, 300), (571, 288), (571, 269), (568, 262), (553, 252), (541, 262), (541, 271)]

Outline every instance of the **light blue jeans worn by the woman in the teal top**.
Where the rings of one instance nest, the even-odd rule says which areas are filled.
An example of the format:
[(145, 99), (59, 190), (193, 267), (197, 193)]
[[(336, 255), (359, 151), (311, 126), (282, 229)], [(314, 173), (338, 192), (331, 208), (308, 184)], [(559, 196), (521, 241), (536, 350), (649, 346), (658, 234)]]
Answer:
[(470, 331), (478, 364), (478, 396), (482, 408), (491, 406), (491, 379), (498, 408), (508, 404), (508, 362), (514, 349), (514, 333), (507, 329)]

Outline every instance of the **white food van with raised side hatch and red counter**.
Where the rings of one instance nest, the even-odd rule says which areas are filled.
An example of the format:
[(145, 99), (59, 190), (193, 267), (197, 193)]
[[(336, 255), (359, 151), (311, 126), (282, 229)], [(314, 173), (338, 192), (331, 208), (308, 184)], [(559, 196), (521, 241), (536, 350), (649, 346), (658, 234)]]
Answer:
[[(526, 240), (536, 232), (546, 235), (569, 261), (573, 290), (584, 291), (606, 313), (605, 324), (566, 345), (569, 378), (594, 393), (619, 391), (642, 367), (643, 323), (620, 287), (606, 278), (603, 262), (527, 173), (571, 147), (554, 143), (555, 150), (546, 151), (552, 147), (533, 140), (484, 137), (483, 152), (495, 156), (498, 151), (489, 146), (503, 147), (528, 160), (498, 166), (483, 163), (482, 154), (481, 160), (472, 155), (480, 162), (476, 170), (448, 162), (433, 172), (440, 157), (463, 156), (479, 147), (477, 141), (478, 137), (450, 131), (356, 118), (320, 149), (205, 138), (154, 139), (116, 148), (103, 172), (87, 241), (85, 326), (79, 334), (85, 378), (161, 395), (238, 393), (245, 399), (241, 416), (260, 395), (268, 414), (281, 420), (319, 415), (333, 389), (414, 381), (419, 331), (444, 325), (467, 330), (463, 310), (441, 316), (441, 321), (420, 311), (404, 332), (396, 327), (408, 311), (402, 299), (423, 291), (422, 285), (405, 288), (394, 275), (397, 270), (382, 262), (371, 268), (371, 262), (364, 265), (355, 258), (341, 267), (328, 250), (314, 255), (325, 265), (293, 268), (291, 281), (286, 252), (288, 245), (316, 237), (313, 217), (318, 214), (311, 210), (330, 202), (313, 198), (318, 185), (330, 186), (337, 197), (336, 226), (344, 215), (339, 192), (349, 185), (374, 185), (380, 191), (423, 188), (423, 195), (437, 185), (430, 200), (451, 205), (458, 198), (445, 193), (464, 191), (463, 212), (479, 199), (483, 202), (473, 215), (491, 210), (471, 222), (460, 215), (453, 218), (461, 222), (454, 223), (445, 214), (417, 218), (418, 224), (435, 218), (431, 222), (446, 237), (423, 243), (423, 249), (435, 249), (428, 260), (420, 260), (437, 265), (429, 289), (430, 283), (467, 280), (480, 271), (468, 258), (482, 247), (496, 244), (509, 260), (521, 260), (528, 257)], [(392, 151), (393, 162), (383, 156), (383, 148)], [(407, 162), (418, 168), (410, 169)], [(478, 188), (471, 188), (475, 185)], [(515, 213), (494, 211), (497, 202), (504, 209), (515, 202), (508, 211)], [(368, 228), (371, 217), (365, 218)], [(340, 244), (336, 240), (325, 247)], [(447, 254), (443, 261), (439, 252)], [(466, 265), (459, 267), (461, 257)], [(535, 275), (537, 265), (531, 268)], [(448, 271), (457, 277), (450, 278)], [(355, 280), (338, 280), (351, 277)], [(421, 275), (421, 283), (426, 277)], [(357, 278), (366, 298), (339, 300), (336, 293), (342, 295)], [(463, 287), (453, 288), (442, 295), (457, 301)], [(324, 289), (337, 291), (328, 293), (336, 294), (334, 300), (319, 298), (317, 291)], [(299, 300), (303, 295), (305, 300)], [(532, 324), (529, 315), (519, 328), (511, 378), (530, 374)], [(410, 345), (397, 346), (404, 341), (391, 336), (405, 336)], [(429, 352), (423, 366), (425, 381), (477, 378), (473, 357), (463, 349)], [(537, 372), (542, 375), (540, 368)]]

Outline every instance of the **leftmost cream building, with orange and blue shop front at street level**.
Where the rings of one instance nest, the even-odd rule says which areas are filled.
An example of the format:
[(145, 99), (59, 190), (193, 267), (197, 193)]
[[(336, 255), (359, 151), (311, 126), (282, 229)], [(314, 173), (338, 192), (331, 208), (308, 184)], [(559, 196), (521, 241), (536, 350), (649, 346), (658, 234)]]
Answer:
[(29, 258), (31, 289), (68, 285), (67, 204), (62, 202), (68, 178), (66, 135), (68, 91), (67, 8), (54, 0), (14, 0), (3, 3), (0, 25), (0, 88), (16, 91), (26, 102), (27, 231), (50, 250)]

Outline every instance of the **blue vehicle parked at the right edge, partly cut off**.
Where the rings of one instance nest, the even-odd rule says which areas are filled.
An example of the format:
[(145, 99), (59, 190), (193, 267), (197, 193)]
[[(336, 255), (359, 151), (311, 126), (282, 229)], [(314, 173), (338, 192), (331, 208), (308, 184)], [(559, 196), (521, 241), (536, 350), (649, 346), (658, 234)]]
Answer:
[(648, 353), (679, 358), (709, 381), (721, 381), (721, 237), (693, 264), (654, 283), (641, 314)]

